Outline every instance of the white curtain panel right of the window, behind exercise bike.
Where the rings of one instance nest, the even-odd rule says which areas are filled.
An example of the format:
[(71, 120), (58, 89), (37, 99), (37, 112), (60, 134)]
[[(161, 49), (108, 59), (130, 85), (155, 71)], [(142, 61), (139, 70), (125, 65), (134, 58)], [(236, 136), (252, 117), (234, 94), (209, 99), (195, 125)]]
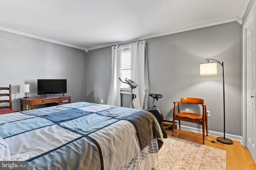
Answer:
[(148, 108), (148, 64), (146, 56), (146, 41), (133, 43), (131, 48), (131, 79), (138, 84), (133, 89), (136, 99), (133, 101), (134, 108)]

